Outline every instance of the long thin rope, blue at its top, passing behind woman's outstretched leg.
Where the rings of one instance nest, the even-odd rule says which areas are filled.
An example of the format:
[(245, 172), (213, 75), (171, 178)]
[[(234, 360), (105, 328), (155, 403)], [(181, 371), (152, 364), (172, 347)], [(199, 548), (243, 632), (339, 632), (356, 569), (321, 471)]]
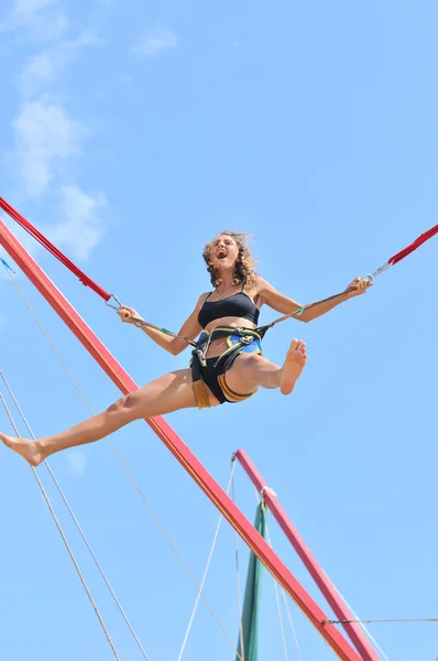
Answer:
[[(4, 264), (3, 264), (4, 266)], [(29, 308), (29, 311), (31, 312), (33, 318), (35, 319), (36, 324), (39, 325), (40, 329), (42, 330), (44, 337), (46, 338), (48, 345), (52, 347), (54, 354), (56, 355), (56, 357), (58, 358), (61, 365), (63, 366), (64, 370), (66, 371), (68, 378), (70, 379), (74, 388), (76, 389), (76, 391), (78, 392), (78, 394), (80, 395), (80, 398), (83, 399), (84, 403), (86, 404), (87, 409), (89, 410), (89, 412), (94, 415), (94, 410), (87, 399), (87, 397), (85, 395), (85, 393), (83, 392), (81, 388), (79, 387), (79, 384), (77, 383), (76, 379), (74, 378), (74, 376), (72, 375), (70, 370), (68, 369), (65, 360), (63, 359), (63, 357), (61, 356), (58, 349), (55, 347), (54, 343), (52, 342), (48, 333), (46, 332), (46, 329), (44, 328), (43, 324), (41, 323), (40, 318), (37, 317), (36, 313), (34, 312), (33, 307), (31, 306), (30, 302), (28, 301), (24, 292), (21, 290), (20, 285), (17, 282), (17, 279), (13, 277), (13, 274), (6, 268), (4, 266), (4, 270), (7, 271), (8, 275), (10, 277), (10, 279), (12, 280), (13, 284), (15, 285), (15, 289), (18, 290), (18, 292), (20, 293), (21, 297), (23, 299), (26, 307)], [(110, 436), (107, 436), (107, 442), (109, 443), (112, 452), (114, 453), (116, 457), (118, 458), (120, 465), (122, 466), (123, 470), (125, 472), (128, 478), (130, 479), (130, 481), (132, 483), (133, 487), (135, 488), (136, 492), (139, 494), (140, 498), (142, 499), (143, 503), (146, 506), (147, 510), (150, 511), (152, 518), (154, 519), (155, 523), (158, 525), (162, 534), (164, 535), (164, 538), (166, 539), (167, 543), (169, 544), (171, 549), (173, 550), (173, 552), (175, 553), (176, 557), (178, 559), (183, 570), (186, 572), (187, 576), (189, 577), (189, 579), (191, 581), (193, 585), (195, 586), (196, 590), (198, 592), (198, 594), (200, 594), (201, 599), (204, 600), (204, 603), (206, 604), (208, 610), (210, 611), (211, 616), (213, 617), (215, 621), (217, 622), (218, 627), (220, 628), (220, 630), (222, 631), (223, 636), (227, 638), (228, 642), (230, 643), (232, 650), (237, 652), (236, 647), (233, 641), (231, 640), (230, 636), (227, 633), (226, 629), (223, 628), (222, 624), (220, 622), (218, 616), (216, 615), (216, 613), (213, 611), (212, 607), (210, 606), (207, 597), (199, 590), (199, 586), (196, 582), (196, 579), (194, 578), (191, 572), (189, 571), (188, 566), (186, 565), (186, 563), (184, 562), (183, 557), (180, 556), (180, 554), (178, 553), (178, 551), (176, 550), (174, 543), (172, 542), (171, 538), (168, 537), (167, 532), (165, 531), (163, 524), (161, 523), (158, 517), (155, 514), (154, 510), (152, 509), (151, 505), (149, 503), (146, 497), (144, 496), (143, 491), (141, 490), (140, 486), (138, 485), (135, 478), (133, 477), (132, 473), (130, 472), (130, 469), (128, 468), (127, 464), (124, 463), (124, 460), (122, 459), (120, 453), (118, 452), (118, 449), (116, 448), (114, 444), (112, 443)]]

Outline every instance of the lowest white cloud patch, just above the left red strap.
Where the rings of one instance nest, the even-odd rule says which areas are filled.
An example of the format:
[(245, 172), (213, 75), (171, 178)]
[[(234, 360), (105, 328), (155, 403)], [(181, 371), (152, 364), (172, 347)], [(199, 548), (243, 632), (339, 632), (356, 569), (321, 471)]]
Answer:
[(78, 186), (63, 186), (61, 209), (64, 220), (43, 231), (56, 246), (67, 248), (77, 259), (85, 260), (103, 237), (99, 210), (106, 204), (102, 193), (87, 194)]

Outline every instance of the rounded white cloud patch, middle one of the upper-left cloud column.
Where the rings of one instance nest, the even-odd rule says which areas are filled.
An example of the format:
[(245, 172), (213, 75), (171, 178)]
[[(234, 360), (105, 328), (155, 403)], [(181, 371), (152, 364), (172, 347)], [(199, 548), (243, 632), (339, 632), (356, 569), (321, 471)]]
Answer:
[(80, 153), (84, 130), (48, 98), (24, 102), (13, 129), (25, 191), (39, 197), (53, 181), (59, 161)]

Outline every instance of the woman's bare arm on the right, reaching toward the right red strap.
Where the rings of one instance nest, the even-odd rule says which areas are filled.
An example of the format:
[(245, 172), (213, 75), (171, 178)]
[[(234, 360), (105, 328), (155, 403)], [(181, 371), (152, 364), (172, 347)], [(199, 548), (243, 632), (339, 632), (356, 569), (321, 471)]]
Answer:
[(333, 296), (329, 296), (324, 301), (319, 301), (318, 303), (313, 303), (311, 306), (306, 307), (302, 303), (297, 303), (289, 296), (280, 293), (272, 284), (270, 284), (263, 278), (258, 278), (256, 286), (258, 286), (258, 295), (261, 297), (262, 302), (276, 310), (276, 312), (281, 312), (283, 314), (292, 314), (302, 307), (304, 307), (304, 312), (296, 318), (300, 322), (311, 322), (319, 316), (322, 316), (330, 310), (333, 310), (340, 303), (344, 303), (349, 299), (353, 299), (363, 294), (369, 286), (372, 285), (370, 280), (363, 278), (355, 278), (348, 288)]

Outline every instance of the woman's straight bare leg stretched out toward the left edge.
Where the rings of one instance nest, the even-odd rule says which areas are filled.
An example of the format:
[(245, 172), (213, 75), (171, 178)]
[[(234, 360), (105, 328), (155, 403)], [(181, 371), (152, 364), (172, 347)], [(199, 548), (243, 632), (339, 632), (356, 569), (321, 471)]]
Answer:
[(55, 452), (99, 441), (133, 420), (164, 415), (190, 407), (197, 407), (191, 388), (191, 372), (189, 369), (183, 369), (151, 381), (122, 397), (102, 413), (54, 436), (28, 441), (0, 434), (0, 441), (18, 452), (32, 466), (37, 466)]

